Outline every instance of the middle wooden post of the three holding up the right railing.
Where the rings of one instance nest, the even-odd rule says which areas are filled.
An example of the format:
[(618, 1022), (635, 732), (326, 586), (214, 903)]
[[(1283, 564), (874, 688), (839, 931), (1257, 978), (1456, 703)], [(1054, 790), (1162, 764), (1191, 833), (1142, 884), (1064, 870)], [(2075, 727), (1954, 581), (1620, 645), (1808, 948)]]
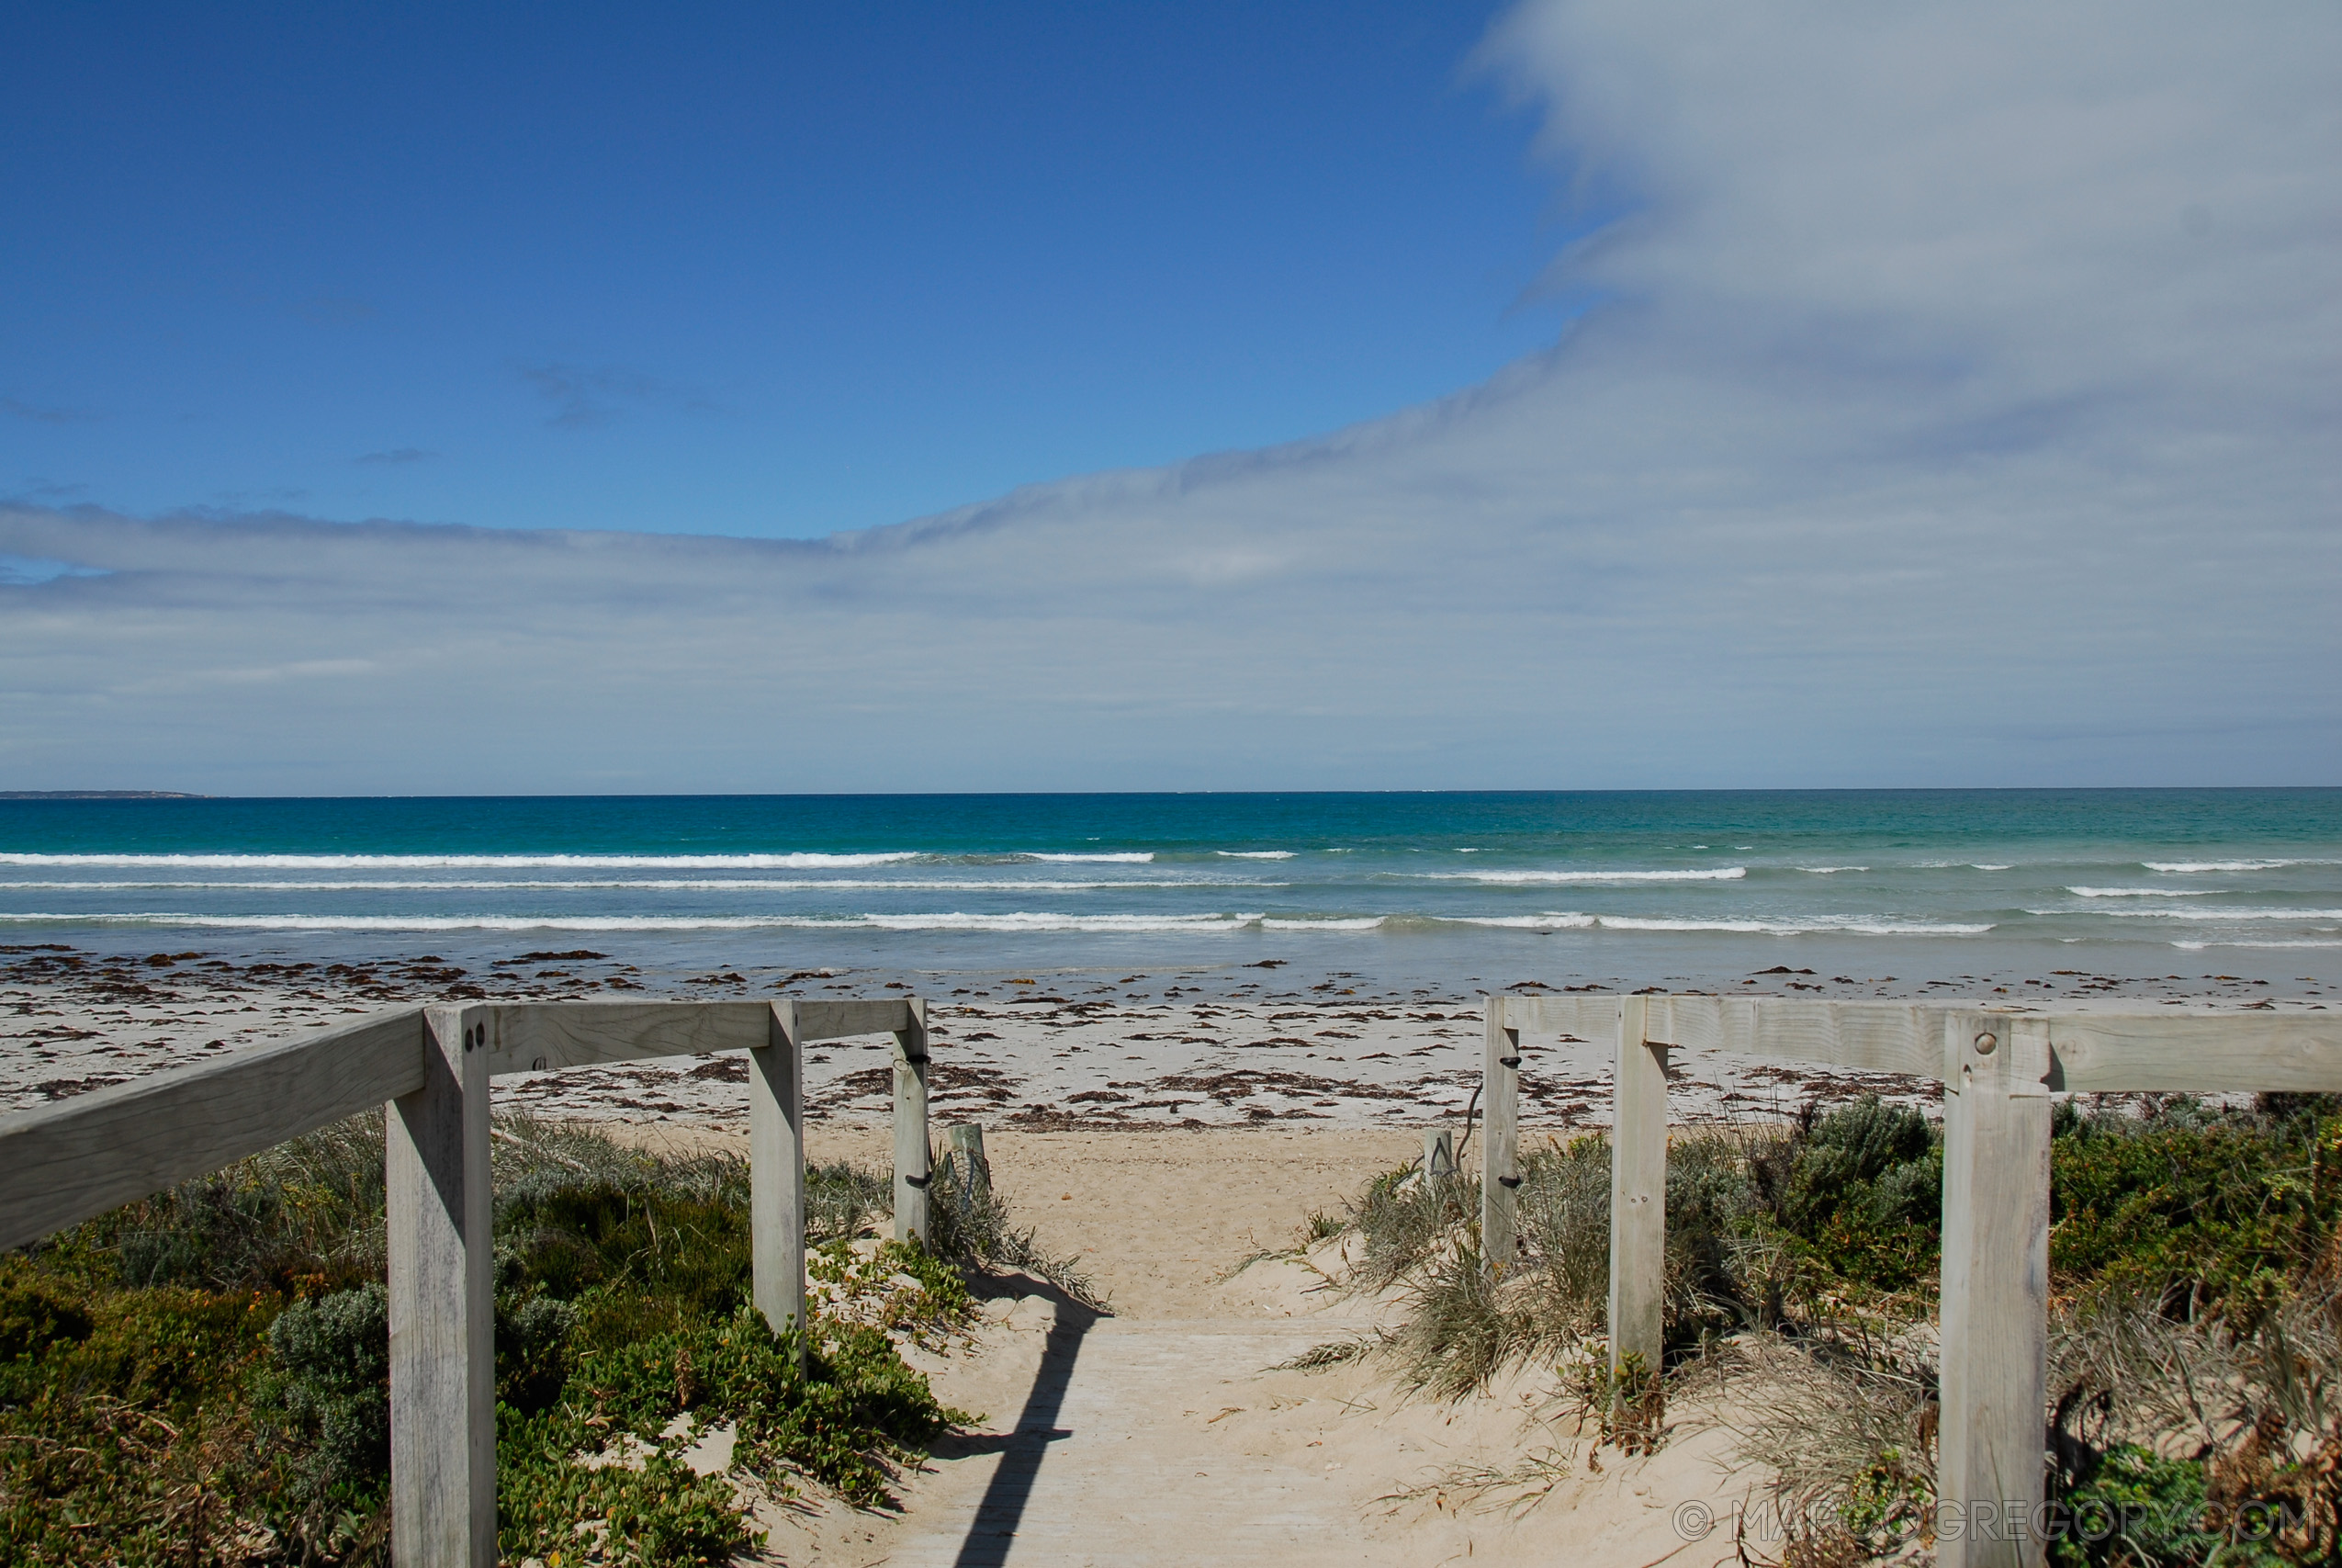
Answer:
[(1611, 1373), (1660, 1366), (1668, 1308), (1668, 1048), (1644, 1041), (1642, 996), (1618, 998), (1611, 1078)]

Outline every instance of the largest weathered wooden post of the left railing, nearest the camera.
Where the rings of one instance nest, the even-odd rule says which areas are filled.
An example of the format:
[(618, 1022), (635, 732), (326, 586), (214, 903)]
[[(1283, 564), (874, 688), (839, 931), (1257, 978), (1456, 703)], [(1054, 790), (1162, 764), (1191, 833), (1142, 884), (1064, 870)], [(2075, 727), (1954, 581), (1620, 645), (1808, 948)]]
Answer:
[(497, 1563), (497, 1298), (489, 1008), (424, 1010), (424, 1088), (384, 1113), (391, 1308), (391, 1554)]

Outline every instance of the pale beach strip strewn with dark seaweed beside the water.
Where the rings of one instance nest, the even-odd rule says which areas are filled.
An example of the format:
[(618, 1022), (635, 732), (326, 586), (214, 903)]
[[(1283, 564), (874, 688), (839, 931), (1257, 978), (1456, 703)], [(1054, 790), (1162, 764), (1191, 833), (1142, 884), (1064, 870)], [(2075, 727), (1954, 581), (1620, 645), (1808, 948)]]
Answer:
[[(2038, 1008), (2323, 1010), (2326, 996), (2279, 994), (2225, 975), (2052, 973), (1862, 980), (1766, 970), (1738, 994), (1902, 996)], [(588, 949), (529, 952), (482, 968), (436, 956), (276, 963), (199, 952), (98, 956), (66, 945), (0, 947), (0, 1111), (52, 1104), (136, 1073), (323, 1029), (379, 1008), (461, 998), (754, 998), (888, 994), (878, 975), (719, 968), (644, 977)], [(1522, 982), (1513, 989), (1557, 989)], [(1276, 968), (1007, 975), (927, 991), (934, 1036), (932, 1113), (1000, 1130), (1197, 1130), (1323, 1125), (1412, 1127), (1461, 1118), (1480, 1076), (1480, 998), (1365, 977), (1281, 982)], [(1609, 1120), (1607, 1041), (1525, 1041), (1522, 1123), (1564, 1130)], [(518, 1109), (735, 1127), (745, 1062), (705, 1057), (515, 1076)], [(1773, 1116), (1808, 1099), (1878, 1092), (1925, 1102), (1934, 1085), (1817, 1066), (1684, 1062), (1670, 1095), (1689, 1120)], [(874, 1127), (888, 1113), (885, 1041), (806, 1052), (810, 1125)]]

